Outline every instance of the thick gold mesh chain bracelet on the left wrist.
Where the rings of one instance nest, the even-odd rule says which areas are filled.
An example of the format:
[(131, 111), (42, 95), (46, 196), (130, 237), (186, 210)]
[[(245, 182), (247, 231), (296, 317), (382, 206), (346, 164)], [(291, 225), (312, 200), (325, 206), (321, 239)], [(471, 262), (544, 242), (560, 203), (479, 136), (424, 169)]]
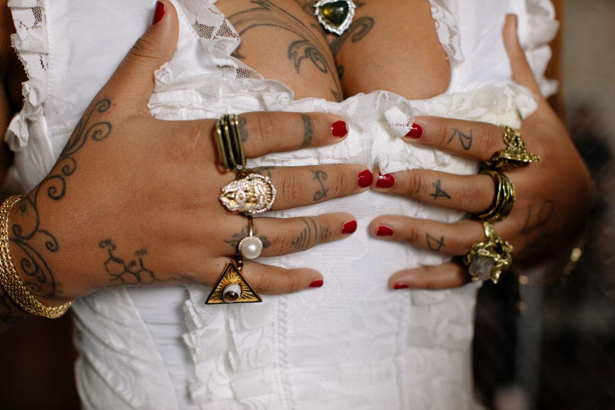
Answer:
[(7, 198), (0, 207), (0, 283), (17, 306), (34, 315), (55, 319), (66, 313), (73, 302), (60, 306), (45, 306), (30, 293), (19, 277), (10, 256), (9, 248), (9, 213), (15, 203), (19, 202), (23, 195), (14, 195)]

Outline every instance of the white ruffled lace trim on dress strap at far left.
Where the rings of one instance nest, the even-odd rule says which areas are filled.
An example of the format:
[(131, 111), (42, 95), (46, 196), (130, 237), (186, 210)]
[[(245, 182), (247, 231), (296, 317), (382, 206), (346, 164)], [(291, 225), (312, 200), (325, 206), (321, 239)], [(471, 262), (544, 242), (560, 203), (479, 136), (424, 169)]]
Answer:
[[(23, 109), (11, 120), (5, 140), (13, 151), (19, 151), (30, 139), (26, 120), (44, 122), (42, 104), (49, 95), (49, 37), (44, 0), (9, 0), (8, 4), (17, 33), (11, 44), (28, 74), (22, 84)], [(46, 132), (44, 124), (40, 130)]]

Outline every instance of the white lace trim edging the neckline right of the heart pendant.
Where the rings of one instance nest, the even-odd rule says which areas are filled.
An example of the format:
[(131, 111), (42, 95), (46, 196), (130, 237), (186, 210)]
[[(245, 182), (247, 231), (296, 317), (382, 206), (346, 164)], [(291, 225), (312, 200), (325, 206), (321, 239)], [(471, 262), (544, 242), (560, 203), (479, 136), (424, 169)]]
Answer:
[(458, 67), (464, 56), (461, 52), (461, 38), (456, 16), (456, 2), (450, 0), (429, 0), (438, 40), (448, 57), (451, 69)]

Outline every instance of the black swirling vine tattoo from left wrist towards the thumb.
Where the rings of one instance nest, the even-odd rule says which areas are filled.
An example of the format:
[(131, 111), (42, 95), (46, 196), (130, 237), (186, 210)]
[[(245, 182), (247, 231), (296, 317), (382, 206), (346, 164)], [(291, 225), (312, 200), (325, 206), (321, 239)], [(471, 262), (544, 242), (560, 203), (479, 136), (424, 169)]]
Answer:
[(54, 298), (62, 295), (60, 283), (55, 280), (54, 272), (46, 259), (48, 254), (60, 250), (60, 243), (55, 235), (44, 227), (44, 221), (39, 215), (39, 200), (41, 197), (54, 201), (63, 199), (66, 194), (66, 179), (77, 170), (75, 154), (87, 141), (102, 141), (111, 134), (111, 123), (100, 120), (100, 114), (108, 112), (110, 108), (111, 101), (103, 99), (85, 112), (55, 167), (38, 184), (33, 197), (25, 197), (17, 205), (17, 218), (10, 228), (9, 241), (22, 254), (15, 267), (22, 274), (26, 288), (35, 296)]

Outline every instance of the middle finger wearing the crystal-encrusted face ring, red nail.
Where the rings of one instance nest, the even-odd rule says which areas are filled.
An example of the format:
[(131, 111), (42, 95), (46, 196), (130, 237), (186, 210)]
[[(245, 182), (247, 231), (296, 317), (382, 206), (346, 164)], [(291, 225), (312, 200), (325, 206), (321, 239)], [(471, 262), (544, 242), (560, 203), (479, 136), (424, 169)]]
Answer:
[(318, 167), (261, 167), (255, 171), (271, 178), (276, 187), (272, 210), (303, 207), (367, 191), (373, 175), (362, 165)]

